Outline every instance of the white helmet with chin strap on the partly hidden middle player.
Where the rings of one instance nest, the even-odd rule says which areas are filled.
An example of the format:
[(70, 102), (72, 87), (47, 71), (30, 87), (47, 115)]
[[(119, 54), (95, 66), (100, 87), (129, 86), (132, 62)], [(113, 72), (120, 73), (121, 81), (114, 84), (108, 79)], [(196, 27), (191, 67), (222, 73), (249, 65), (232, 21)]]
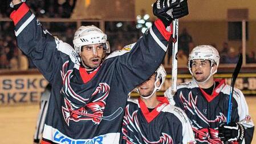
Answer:
[[(141, 97), (147, 99), (147, 98), (151, 97), (153, 95), (153, 93), (155, 93), (156, 91), (159, 91), (162, 87), (162, 84), (164, 84), (165, 77), (166, 77), (166, 71), (164, 69), (164, 66), (161, 64), (160, 67), (156, 70), (155, 88), (154, 88), (152, 94), (149, 96), (146, 96), (146, 97), (144, 97), (144, 96), (141, 96)], [(156, 85), (157, 81), (160, 81), (160, 85), (158, 87)], [(139, 93), (138, 89), (137, 89), (137, 92)]]

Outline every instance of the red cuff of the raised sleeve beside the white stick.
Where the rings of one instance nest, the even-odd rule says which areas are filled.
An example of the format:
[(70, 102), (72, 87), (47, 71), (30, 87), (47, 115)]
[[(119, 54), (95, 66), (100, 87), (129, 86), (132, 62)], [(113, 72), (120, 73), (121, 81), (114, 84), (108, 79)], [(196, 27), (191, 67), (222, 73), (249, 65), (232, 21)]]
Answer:
[(165, 40), (169, 41), (170, 36), (173, 33), (172, 24), (170, 24), (170, 31), (166, 31), (164, 23), (162, 23), (162, 21), (160, 19), (157, 19), (155, 21), (155, 25), (156, 25), (157, 29), (160, 31), (160, 33), (162, 34), (162, 36), (164, 36)]

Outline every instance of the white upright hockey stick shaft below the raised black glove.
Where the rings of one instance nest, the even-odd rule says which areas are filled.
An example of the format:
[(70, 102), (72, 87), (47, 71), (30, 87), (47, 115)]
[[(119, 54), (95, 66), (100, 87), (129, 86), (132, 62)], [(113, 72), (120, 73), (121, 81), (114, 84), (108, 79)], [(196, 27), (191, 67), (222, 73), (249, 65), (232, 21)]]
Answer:
[[(170, 40), (169, 40), (170, 44)], [(170, 49), (169, 49), (170, 51)], [(178, 19), (173, 20), (172, 34), (172, 94), (177, 91), (177, 71), (178, 71)]]

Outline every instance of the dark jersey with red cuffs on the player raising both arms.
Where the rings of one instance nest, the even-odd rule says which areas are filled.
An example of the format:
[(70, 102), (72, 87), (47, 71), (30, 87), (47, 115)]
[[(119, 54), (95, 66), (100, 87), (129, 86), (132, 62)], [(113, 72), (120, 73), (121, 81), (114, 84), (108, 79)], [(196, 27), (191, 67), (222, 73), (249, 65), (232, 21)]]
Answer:
[(128, 93), (164, 59), (171, 32), (161, 20), (131, 51), (113, 52), (88, 74), (73, 48), (44, 30), (25, 3), (10, 18), (18, 47), (52, 85), (43, 143), (119, 143)]

